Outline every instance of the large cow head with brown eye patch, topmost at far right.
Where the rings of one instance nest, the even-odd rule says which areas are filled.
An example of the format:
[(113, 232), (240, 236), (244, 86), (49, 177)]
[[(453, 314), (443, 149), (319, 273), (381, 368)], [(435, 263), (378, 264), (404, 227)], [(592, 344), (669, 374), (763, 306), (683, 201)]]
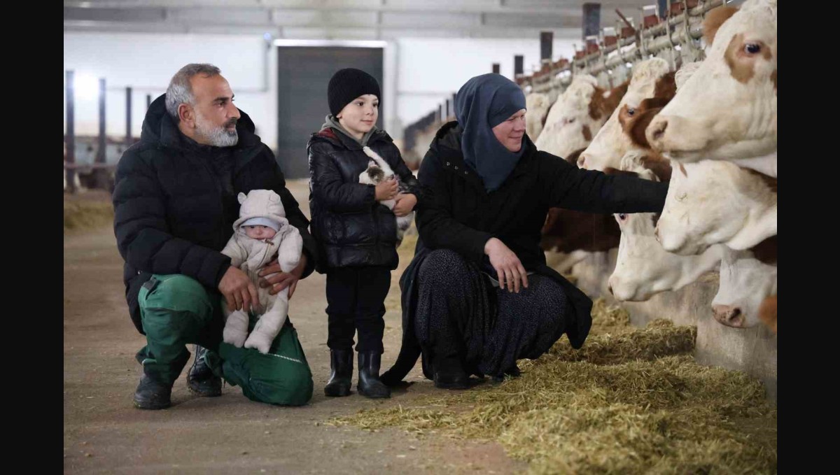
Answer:
[(648, 142), (684, 162), (769, 154), (776, 148), (776, 2), (748, 1), (719, 29), (706, 27), (714, 30), (706, 60), (650, 123)]

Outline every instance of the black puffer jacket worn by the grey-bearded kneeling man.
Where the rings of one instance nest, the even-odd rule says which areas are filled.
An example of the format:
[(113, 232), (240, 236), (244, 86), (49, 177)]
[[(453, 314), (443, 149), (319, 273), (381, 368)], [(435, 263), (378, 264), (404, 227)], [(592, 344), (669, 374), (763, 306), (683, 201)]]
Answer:
[(309, 221), (286, 189), (274, 154), (254, 133), (242, 111), (234, 147), (199, 145), (181, 133), (165, 111), (165, 95), (152, 102), (140, 141), (117, 165), (113, 191), (114, 233), (125, 259), (123, 280), (129, 313), (143, 333), (137, 295), (151, 274), (184, 274), (218, 294), (230, 267), (221, 253), (239, 217), (239, 192), (273, 190), (286, 217), (301, 232), (312, 273), (317, 246)]

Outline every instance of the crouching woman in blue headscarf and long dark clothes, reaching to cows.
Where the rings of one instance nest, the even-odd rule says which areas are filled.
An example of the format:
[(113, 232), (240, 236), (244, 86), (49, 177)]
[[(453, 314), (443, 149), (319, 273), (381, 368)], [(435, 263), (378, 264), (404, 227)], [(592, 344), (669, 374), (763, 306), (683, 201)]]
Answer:
[(470, 374), (518, 375), (565, 333), (580, 348), (592, 301), (545, 264), (540, 229), (550, 207), (659, 212), (667, 183), (579, 170), (525, 134), (525, 97), (497, 74), (455, 97), (457, 122), (436, 134), (418, 179), (417, 248), (401, 279), (402, 349), (382, 381), (398, 384), (423, 355), (438, 388)]

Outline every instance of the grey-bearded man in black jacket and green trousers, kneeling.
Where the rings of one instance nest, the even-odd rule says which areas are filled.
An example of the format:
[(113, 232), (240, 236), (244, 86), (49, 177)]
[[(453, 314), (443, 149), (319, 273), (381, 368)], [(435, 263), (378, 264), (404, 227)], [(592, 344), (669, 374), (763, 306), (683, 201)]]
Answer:
[[(317, 251), (274, 154), (255, 135), (248, 115), (234, 106), (234, 93), (220, 73), (207, 64), (181, 68), (165, 95), (152, 102), (139, 143), (125, 151), (117, 168), (114, 232), (125, 260), (131, 319), (147, 340), (136, 357), (144, 372), (134, 393), (140, 409), (171, 405), (190, 343), (197, 344), (187, 374), (193, 393), (220, 395), (224, 368), (228, 383), (242, 386), (249, 399), (297, 405), (312, 394), (312, 373), (291, 324), (271, 352), (291, 348), (297, 356), (260, 358), (255, 350), (221, 343), (221, 305), (249, 311), (258, 302), (248, 276), (220, 253), (234, 232), (240, 191), (275, 191), (303, 238), (301, 264), (282, 273), (272, 263), (260, 275), (277, 274), (260, 286), (271, 285), (272, 294), (288, 287), (291, 297), (297, 280), (312, 273)], [(258, 376), (269, 381), (252, 381)]]

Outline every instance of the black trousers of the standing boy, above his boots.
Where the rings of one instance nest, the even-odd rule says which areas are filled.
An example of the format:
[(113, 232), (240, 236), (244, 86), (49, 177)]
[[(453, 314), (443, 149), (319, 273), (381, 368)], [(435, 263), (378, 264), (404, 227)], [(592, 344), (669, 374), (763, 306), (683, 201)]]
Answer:
[(391, 270), (386, 267), (339, 267), (327, 271), (327, 346), (331, 350), (353, 347), (356, 352), (382, 354), (385, 331), (385, 297), (391, 287)]

